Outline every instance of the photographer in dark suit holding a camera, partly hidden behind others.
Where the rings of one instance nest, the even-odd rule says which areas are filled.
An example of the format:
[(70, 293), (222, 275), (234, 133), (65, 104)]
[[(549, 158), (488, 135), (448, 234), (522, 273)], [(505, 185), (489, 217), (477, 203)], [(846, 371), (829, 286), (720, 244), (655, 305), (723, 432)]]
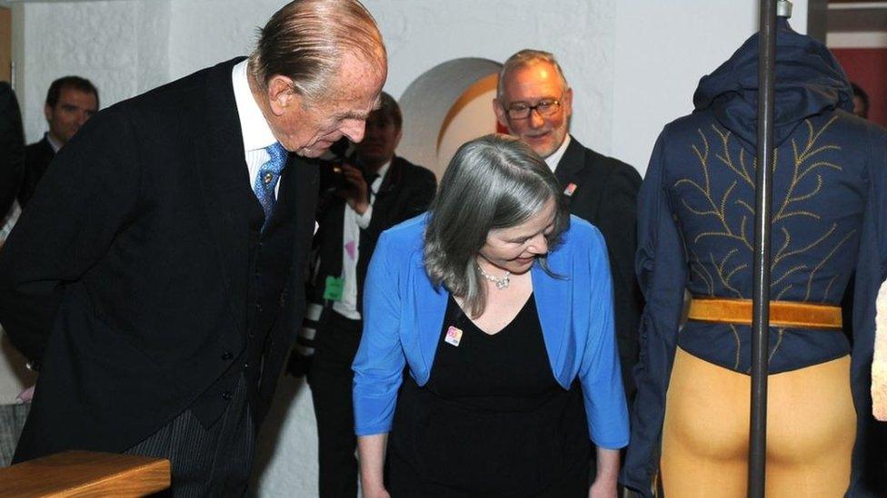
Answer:
[(307, 318), (316, 329), (308, 382), (323, 498), (357, 496), (351, 364), (360, 344), (364, 278), (376, 240), (383, 230), (426, 210), (436, 189), (434, 173), (394, 155), (403, 117), (391, 95), (382, 93), (381, 100), (353, 156), (321, 174), (317, 259), (308, 294), (314, 304)]

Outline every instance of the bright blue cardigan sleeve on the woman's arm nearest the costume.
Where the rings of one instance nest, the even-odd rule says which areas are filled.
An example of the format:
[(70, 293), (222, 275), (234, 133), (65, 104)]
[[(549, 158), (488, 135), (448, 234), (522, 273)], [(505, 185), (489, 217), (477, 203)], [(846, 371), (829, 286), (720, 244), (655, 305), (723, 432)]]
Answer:
[(606, 449), (622, 448), (628, 444), (628, 408), (619, 367), (619, 355), (613, 337), (613, 285), (610, 264), (603, 236), (596, 229), (589, 247), (579, 255), (584, 269), (574, 269), (573, 275), (583, 276), (576, 281), (587, 298), (588, 330), (585, 333), (579, 380), (583, 387), (588, 432), (594, 444)]

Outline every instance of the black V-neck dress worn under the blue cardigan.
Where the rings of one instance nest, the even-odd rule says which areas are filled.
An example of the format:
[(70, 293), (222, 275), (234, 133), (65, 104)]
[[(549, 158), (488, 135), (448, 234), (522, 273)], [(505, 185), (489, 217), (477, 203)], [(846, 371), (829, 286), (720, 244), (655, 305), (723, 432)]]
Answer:
[(533, 296), (492, 336), (451, 297), (428, 383), (405, 375), (398, 395), (392, 496), (586, 496), (590, 452), (581, 388), (554, 379)]

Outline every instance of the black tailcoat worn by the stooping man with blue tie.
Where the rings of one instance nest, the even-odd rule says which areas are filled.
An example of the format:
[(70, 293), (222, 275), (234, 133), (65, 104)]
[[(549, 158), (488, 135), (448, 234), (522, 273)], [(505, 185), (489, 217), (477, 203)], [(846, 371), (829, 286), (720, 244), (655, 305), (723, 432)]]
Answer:
[[(235, 200), (252, 190), (231, 83), (240, 60), (97, 113), (59, 151), (0, 253), (0, 323), (43, 360), (18, 461), (123, 451), (244, 351), (249, 214)], [(280, 188), (297, 200), (296, 241), (250, 400), (256, 425), (304, 313), (314, 163), (291, 154)]]

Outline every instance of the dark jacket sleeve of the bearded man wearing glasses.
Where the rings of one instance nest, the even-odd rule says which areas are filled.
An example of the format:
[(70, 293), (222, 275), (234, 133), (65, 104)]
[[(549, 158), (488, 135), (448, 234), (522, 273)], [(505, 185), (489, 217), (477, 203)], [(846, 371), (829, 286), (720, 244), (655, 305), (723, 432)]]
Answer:
[(638, 320), (643, 298), (634, 277), (637, 251), (637, 195), (641, 175), (620, 163), (603, 187), (598, 228), (607, 241), (607, 254), (613, 274), (614, 323), (625, 393), (634, 393), (632, 368), (637, 363)]

